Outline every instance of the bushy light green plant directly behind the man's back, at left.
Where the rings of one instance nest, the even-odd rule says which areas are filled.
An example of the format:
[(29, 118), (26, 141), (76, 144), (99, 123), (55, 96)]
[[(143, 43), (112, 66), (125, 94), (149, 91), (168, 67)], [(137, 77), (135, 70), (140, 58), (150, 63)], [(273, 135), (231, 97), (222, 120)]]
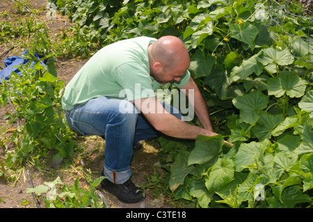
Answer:
[(14, 73), (9, 81), (1, 84), (0, 104), (6, 106), (12, 102), (15, 112), (7, 113), (10, 122), (24, 120), (15, 136), (17, 148), (8, 152), (6, 166), (22, 166), (25, 161), (40, 164), (40, 157), (46, 157), (52, 150), (56, 151), (52, 165), (59, 164), (63, 158), (72, 157), (77, 145), (74, 133), (65, 124), (61, 97), (64, 81), (47, 72), (38, 59), (20, 65), (22, 77)]

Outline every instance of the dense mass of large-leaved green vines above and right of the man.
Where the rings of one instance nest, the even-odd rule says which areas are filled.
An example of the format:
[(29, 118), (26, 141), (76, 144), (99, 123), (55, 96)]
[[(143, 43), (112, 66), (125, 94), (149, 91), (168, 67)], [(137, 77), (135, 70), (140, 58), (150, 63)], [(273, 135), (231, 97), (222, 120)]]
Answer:
[[(312, 44), (300, 42), (310, 38), (307, 17), (296, 18), (303, 28), (286, 14), (286, 26), (268, 29), (266, 1), (54, 2), (100, 45), (139, 35), (186, 44), (220, 135), (160, 139), (175, 198), (200, 207), (312, 205)], [(293, 47), (282, 28), (297, 36)]]

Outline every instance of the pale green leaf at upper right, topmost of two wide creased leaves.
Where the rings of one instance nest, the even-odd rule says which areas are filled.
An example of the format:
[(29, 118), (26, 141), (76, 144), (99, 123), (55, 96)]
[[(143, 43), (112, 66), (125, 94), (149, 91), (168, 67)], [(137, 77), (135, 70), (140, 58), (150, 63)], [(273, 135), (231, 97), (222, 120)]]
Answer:
[(268, 65), (269, 63), (290, 65), (294, 62), (294, 57), (287, 48), (282, 51), (275, 50), (274, 48), (267, 48), (261, 51), (261, 54), (257, 57), (257, 61), (263, 65)]

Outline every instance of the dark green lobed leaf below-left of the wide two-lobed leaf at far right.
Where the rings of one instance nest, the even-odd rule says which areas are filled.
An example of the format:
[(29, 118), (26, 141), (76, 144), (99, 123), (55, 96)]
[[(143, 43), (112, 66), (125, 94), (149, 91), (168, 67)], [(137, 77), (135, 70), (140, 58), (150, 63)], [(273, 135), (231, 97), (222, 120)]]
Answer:
[(234, 98), (232, 103), (240, 110), (241, 122), (255, 124), (259, 120), (259, 112), (268, 104), (268, 97), (257, 90)]

